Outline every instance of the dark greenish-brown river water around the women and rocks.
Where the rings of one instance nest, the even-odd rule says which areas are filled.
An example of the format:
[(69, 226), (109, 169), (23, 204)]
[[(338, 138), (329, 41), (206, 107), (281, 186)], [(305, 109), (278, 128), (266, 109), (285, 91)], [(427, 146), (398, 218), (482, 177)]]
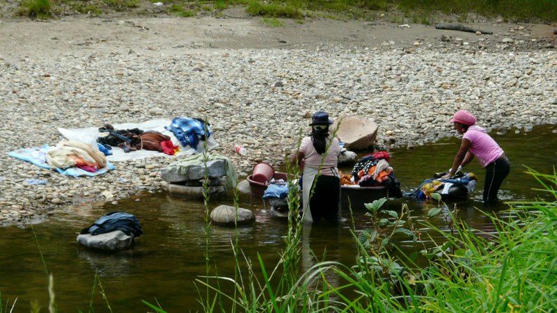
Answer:
[[(494, 135), (512, 166), (508, 179), (501, 187), (503, 200), (531, 200), (542, 196), (539, 191), (532, 190), (538, 188), (538, 184), (524, 173), (526, 168), (523, 164), (540, 172), (553, 171), (553, 166), (557, 164), (557, 135), (551, 132), (552, 129), (554, 127), (544, 126), (535, 127), (528, 134), (510, 131), (503, 136)], [(407, 191), (431, 177), (433, 172), (447, 170), (458, 144), (459, 139), (448, 138), (417, 147), (416, 150), (395, 150), (391, 166), (402, 182), (402, 189)], [(468, 170), (475, 172), (480, 182), (471, 199), (458, 204), (460, 216), (476, 229), (492, 231), (489, 218), (475, 207), (502, 216), (512, 217), (512, 213), (502, 212), (507, 208), (505, 204), (484, 207), (480, 200), (485, 171), (477, 161), (473, 161)], [(409, 204), (416, 220), (427, 220), (431, 204), (403, 199), (389, 200), (387, 205), (400, 210), (404, 202)], [(230, 200), (213, 200), (210, 206), (223, 203), (230, 204)], [(255, 225), (239, 231), (242, 250), (254, 261), (259, 252), (266, 264), (276, 264), (278, 253), (283, 249), (285, 221), (273, 218), (269, 211), (261, 209), (261, 204), (251, 203), (248, 199), (242, 199), (241, 206), (253, 209), (257, 216)], [(98, 216), (115, 210), (129, 211), (141, 220), (145, 234), (132, 250), (107, 254), (77, 246), (75, 237), (79, 230), (90, 225)], [(347, 216), (347, 212), (344, 213)], [(369, 223), (361, 210), (354, 213), (354, 218), (358, 230)], [(434, 218), (431, 222), (444, 226), (441, 218)], [(142, 197), (139, 202), (126, 200), (118, 206), (84, 204), (56, 214), (45, 223), (35, 225), (34, 230), (45, 262), (54, 274), (56, 303), (61, 312), (88, 311), (95, 271), (114, 312), (146, 312), (148, 308), (141, 300), (154, 303), (155, 298), (168, 312), (195, 312), (200, 306), (194, 279), (205, 275), (203, 227), (203, 202), (159, 193)], [(216, 265), (220, 275), (233, 277), (235, 261), (230, 250), (233, 236), (234, 230), (211, 227), (212, 268)], [(411, 241), (402, 238), (398, 245), (407, 252), (416, 249)], [(356, 251), (350, 223), (308, 228), (302, 248), (304, 268), (315, 263), (310, 257), (310, 249), (319, 256), (326, 250), (328, 260), (354, 264)], [(43, 307), (48, 304), (45, 269), (31, 227), (0, 228), (0, 291), (4, 299), (19, 297), (16, 312), (29, 312), (33, 300), (38, 300)], [(98, 293), (94, 304), (96, 312), (107, 311)]]

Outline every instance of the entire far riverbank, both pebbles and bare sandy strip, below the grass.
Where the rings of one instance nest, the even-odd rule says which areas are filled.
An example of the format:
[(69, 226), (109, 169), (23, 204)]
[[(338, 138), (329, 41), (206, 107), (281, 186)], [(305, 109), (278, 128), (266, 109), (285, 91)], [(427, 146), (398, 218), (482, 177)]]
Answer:
[[(317, 110), (374, 118), (377, 143), (389, 149), (453, 136), (448, 119), (457, 109), (494, 131), (557, 125), (557, 53), (551, 38), (533, 38), (543, 26), (509, 24), (497, 36), (430, 27), (416, 39), (426, 26), (358, 22), (327, 37), (336, 23), (302, 31), (212, 18), (2, 22), (0, 224), (157, 192), (160, 168), (175, 160), (118, 162), (106, 175), (72, 179), (8, 157), (20, 147), (55, 145), (57, 127), (206, 118), (216, 152), (245, 176), (258, 161), (280, 165)], [(180, 31), (185, 25), (198, 29)], [(316, 38), (295, 42), (305, 38), (299, 31)], [(452, 38), (442, 41), (441, 33)], [(246, 40), (234, 45), (239, 38)], [(246, 147), (246, 157), (233, 152), (235, 144)]]

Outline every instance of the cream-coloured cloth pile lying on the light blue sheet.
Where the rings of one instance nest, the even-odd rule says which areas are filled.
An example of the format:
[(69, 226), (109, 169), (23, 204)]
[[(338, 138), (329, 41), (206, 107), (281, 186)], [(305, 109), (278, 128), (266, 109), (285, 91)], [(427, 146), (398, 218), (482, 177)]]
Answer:
[(81, 168), (86, 172), (97, 172), (107, 166), (106, 154), (100, 147), (80, 141), (61, 141), (45, 152), (45, 161), (52, 168)]

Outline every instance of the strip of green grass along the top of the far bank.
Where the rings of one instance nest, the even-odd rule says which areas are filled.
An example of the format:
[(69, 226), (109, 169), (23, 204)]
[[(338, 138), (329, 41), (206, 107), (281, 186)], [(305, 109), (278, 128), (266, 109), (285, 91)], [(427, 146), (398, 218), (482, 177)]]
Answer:
[[(66, 0), (62, 0), (64, 2)], [(158, 2), (159, 0), (150, 0)], [(324, 17), (331, 19), (377, 19), (379, 13), (386, 20), (395, 23), (433, 24), (454, 19), (457, 22), (471, 22), (472, 17), (501, 16), (505, 20), (517, 22), (557, 22), (556, 0), (160, 0), (184, 6), (185, 10), (175, 12), (181, 17), (191, 17), (197, 11), (213, 11), (215, 16), (230, 6), (245, 6), (249, 15), (270, 18), (304, 19)], [(106, 0), (107, 6), (115, 10), (129, 10), (139, 7), (139, 0)], [(80, 0), (70, 1), (70, 6), (79, 13), (100, 14), (95, 3)], [(50, 0), (24, 0), (19, 15), (46, 19), (52, 17)]]

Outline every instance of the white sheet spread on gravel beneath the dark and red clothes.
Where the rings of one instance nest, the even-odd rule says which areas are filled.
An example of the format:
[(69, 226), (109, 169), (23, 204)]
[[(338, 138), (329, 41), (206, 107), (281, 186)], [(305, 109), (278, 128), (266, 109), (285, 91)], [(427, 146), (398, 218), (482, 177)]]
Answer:
[[(123, 123), (123, 124), (113, 124), (112, 126), (114, 129), (132, 129), (132, 128), (139, 128), (143, 131), (159, 131), (159, 133), (169, 136), (171, 138), (172, 143), (174, 145), (180, 146), (180, 151), (175, 154), (176, 157), (180, 155), (189, 155), (195, 154), (197, 152), (203, 152), (204, 143), (200, 141), (198, 144), (198, 150), (195, 150), (192, 147), (182, 147), (180, 145), (180, 141), (178, 138), (174, 136), (171, 131), (166, 130), (164, 127), (171, 124), (170, 120), (165, 119), (157, 119), (157, 120), (148, 120), (146, 122), (141, 123)], [(62, 136), (69, 140), (74, 141), (81, 141), (84, 143), (95, 143), (97, 138), (99, 137), (99, 129), (98, 127), (85, 127), (85, 128), (61, 128), (58, 127), (58, 131)], [(212, 136), (209, 137), (207, 140), (207, 150), (213, 150), (214, 148), (218, 147), (219, 144), (217, 141), (214, 140)], [(119, 147), (112, 147), (112, 155), (109, 155), (107, 159), (111, 162), (120, 162), (120, 161), (132, 161), (132, 160), (139, 160), (139, 159), (146, 159), (152, 157), (173, 157), (162, 152), (157, 151), (149, 151), (149, 150), (137, 150), (132, 151), (129, 153), (124, 152), (123, 149)]]

